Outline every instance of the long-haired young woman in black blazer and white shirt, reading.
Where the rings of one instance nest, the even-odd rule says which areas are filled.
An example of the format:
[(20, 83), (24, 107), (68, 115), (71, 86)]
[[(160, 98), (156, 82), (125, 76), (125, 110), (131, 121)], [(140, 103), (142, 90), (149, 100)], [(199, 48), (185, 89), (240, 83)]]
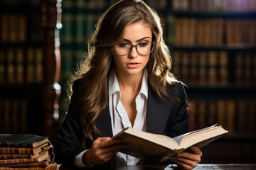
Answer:
[[(188, 132), (183, 84), (171, 74), (159, 16), (143, 1), (123, 0), (97, 23), (70, 83), (70, 106), (55, 139), (55, 161), (72, 166), (145, 164), (119, 152), (111, 137), (127, 127), (176, 137)], [(171, 157), (192, 169), (202, 152)], [(168, 163), (168, 162), (167, 162)]]

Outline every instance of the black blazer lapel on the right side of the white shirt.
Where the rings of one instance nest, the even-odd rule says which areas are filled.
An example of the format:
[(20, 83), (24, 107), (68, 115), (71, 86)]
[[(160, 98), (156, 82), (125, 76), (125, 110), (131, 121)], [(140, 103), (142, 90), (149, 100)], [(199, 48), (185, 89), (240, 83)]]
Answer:
[(171, 112), (168, 98), (160, 98), (149, 85), (146, 108), (146, 132), (163, 134)]

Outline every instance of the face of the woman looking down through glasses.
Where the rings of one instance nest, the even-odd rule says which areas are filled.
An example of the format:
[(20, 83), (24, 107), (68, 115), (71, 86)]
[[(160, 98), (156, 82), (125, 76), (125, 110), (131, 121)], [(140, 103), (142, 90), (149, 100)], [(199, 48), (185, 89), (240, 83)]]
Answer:
[[(120, 45), (115, 47), (116, 51), (125, 51), (125, 48), (129, 49), (129, 44), (137, 45), (139, 52), (143, 54), (149, 54), (151, 50), (151, 44), (146, 42), (152, 42), (151, 29), (146, 26), (142, 21), (132, 23), (124, 28), (124, 38)], [(118, 50), (119, 49), (119, 50)], [(129, 51), (129, 50), (128, 50)], [(122, 76), (143, 74), (144, 67), (146, 67), (149, 61), (149, 55), (140, 55), (136, 47), (132, 47), (132, 52), (129, 55), (117, 55), (114, 52), (114, 69), (115, 72)], [(123, 53), (125, 54), (125, 52)]]

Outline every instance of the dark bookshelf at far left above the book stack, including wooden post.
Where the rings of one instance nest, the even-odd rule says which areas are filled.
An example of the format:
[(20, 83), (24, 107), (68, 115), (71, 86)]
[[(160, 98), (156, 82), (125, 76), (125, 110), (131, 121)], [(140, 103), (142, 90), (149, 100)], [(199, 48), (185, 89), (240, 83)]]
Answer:
[(58, 86), (53, 84), (58, 83), (60, 69), (56, 3), (0, 3), (1, 133), (45, 135), (50, 140), (55, 136)]

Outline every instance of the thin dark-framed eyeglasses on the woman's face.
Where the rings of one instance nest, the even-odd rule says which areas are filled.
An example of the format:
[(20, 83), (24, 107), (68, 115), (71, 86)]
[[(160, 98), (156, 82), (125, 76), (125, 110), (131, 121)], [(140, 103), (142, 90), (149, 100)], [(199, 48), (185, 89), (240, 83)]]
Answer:
[(114, 47), (114, 51), (117, 55), (124, 56), (129, 55), (132, 52), (132, 48), (135, 47), (139, 55), (149, 55), (153, 51), (154, 45), (156, 45), (156, 42), (142, 42), (137, 45), (122, 42)]

